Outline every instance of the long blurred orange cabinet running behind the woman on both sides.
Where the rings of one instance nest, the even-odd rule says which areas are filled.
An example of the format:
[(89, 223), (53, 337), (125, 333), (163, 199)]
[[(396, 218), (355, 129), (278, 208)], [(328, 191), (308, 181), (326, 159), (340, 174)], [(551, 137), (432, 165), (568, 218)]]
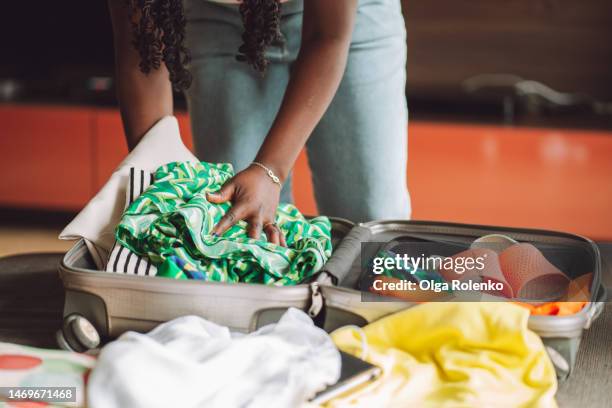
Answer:
[[(414, 219), (612, 240), (612, 132), (412, 121), (408, 133)], [(127, 147), (115, 109), (0, 105), (0, 152), (0, 207), (78, 210)], [(304, 153), (293, 186), (316, 213)]]

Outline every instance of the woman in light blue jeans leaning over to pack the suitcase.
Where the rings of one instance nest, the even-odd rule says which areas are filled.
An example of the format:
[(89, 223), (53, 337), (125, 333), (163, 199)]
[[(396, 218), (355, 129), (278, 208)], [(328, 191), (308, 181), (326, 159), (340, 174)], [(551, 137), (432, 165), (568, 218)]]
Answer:
[[(240, 170), (212, 202), (249, 236), (291, 202), (306, 145), (318, 209), (406, 218), (406, 44), (399, 0), (109, 0), (130, 148), (186, 90), (197, 156)], [(282, 185), (282, 190), (281, 190)]]

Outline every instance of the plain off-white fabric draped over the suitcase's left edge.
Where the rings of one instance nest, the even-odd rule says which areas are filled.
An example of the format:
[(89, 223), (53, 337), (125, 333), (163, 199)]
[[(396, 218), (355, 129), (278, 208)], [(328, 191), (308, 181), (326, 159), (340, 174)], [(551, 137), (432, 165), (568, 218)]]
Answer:
[(130, 167), (152, 172), (173, 161), (197, 161), (197, 158), (183, 144), (176, 118), (166, 116), (149, 129), (98, 194), (64, 228), (59, 238), (84, 238), (88, 247), (93, 244), (98, 250), (97, 258), (107, 259), (115, 242), (115, 227), (123, 213)]

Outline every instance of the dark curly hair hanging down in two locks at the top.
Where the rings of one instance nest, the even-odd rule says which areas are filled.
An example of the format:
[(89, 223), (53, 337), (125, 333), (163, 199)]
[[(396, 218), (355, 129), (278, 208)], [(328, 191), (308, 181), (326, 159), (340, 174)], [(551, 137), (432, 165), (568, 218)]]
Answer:
[[(191, 56), (185, 47), (185, 12), (183, 0), (126, 0), (132, 23), (133, 44), (140, 55), (140, 70), (149, 73), (163, 62), (176, 90), (191, 85), (187, 70)], [(236, 59), (265, 74), (268, 60), (265, 50), (282, 44), (280, 0), (241, 0), (244, 24), (242, 45)]]

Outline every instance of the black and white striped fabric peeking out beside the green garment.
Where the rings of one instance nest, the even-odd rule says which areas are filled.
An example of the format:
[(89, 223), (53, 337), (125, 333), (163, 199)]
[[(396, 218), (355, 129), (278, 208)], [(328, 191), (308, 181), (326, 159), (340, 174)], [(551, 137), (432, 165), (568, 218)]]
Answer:
[[(151, 184), (153, 184), (153, 174), (132, 167), (126, 191), (125, 208), (132, 204)], [(146, 257), (136, 255), (115, 241), (106, 263), (106, 272), (155, 276), (157, 268)]]

